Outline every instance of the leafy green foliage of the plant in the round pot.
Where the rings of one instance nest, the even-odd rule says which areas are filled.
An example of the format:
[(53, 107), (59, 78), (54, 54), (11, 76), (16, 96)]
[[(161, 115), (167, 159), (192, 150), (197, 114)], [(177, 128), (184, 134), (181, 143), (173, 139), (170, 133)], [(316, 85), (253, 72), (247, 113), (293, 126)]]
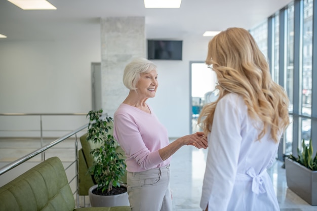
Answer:
[(115, 151), (117, 142), (109, 133), (113, 119), (108, 116), (103, 118), (102, 110), (92, 110), (86, 117), (89, 117), (87, 141), (97, 145), (90, 152), (94, 156), (94, 163), (88, 173), (93, 175), (97, 190), (109, 193), (112, 187), (120, 187), (120, 178), (126, 171), (125, 160)]

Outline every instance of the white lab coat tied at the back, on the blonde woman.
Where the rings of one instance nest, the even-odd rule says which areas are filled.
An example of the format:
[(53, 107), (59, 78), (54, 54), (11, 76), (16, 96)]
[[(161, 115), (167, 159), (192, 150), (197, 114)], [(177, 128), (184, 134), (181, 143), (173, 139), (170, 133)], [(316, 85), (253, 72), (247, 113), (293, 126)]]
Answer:
[(256, 141), (261, 127), (260, 121), (248, 116), (241, 96), (230, 93), (218, 102), (208, 134), (203, 210), (207, 204), (208, 211), (280, 210), (266, 172), (275, 160), (278, 143), (271, 140), (269, 130)]

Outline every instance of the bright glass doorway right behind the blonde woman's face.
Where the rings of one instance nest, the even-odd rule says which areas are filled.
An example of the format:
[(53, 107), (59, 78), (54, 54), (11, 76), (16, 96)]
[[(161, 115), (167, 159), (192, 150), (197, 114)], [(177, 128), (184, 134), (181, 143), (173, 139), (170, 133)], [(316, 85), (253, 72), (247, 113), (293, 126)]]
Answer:
[(207, 67), (205, 62), (189, 62), (190, 66), (190, 133), (202, 131), (197, 125), (197, 118), (203, 106), (214, 101), (216, 73)]

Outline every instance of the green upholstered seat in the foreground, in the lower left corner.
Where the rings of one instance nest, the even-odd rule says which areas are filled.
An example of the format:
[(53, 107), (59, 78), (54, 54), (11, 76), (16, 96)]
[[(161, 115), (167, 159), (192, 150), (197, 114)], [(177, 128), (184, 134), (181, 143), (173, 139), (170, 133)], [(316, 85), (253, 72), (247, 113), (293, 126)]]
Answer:
[(51, 157), (0, 187), (0, 211), (130, 211), (130, 206), (75, 207), (63, 163)]

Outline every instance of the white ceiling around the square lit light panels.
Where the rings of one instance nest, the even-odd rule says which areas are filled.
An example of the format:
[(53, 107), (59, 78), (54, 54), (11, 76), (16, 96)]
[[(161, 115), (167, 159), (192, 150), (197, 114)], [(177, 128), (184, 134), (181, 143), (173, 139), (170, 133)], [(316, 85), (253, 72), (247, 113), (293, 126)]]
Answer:
[(49, 0), (57, 10), (24, 11), (0, 0), (0, 41), (55, 40), (99, 33), (102, 17), (143, 16), (147, 38), (201, 37), (250, 29), (292, 0), (182, 0), (180, 9), (145, 9), (143, 0)]

